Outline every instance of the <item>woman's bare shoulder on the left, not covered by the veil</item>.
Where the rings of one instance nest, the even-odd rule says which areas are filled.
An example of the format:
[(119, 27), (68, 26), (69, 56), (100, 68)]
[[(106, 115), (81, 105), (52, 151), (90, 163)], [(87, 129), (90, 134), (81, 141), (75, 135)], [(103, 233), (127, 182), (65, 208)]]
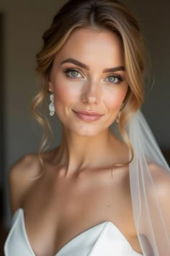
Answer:
[(38, 154), (28, 154), (20, 158), (9, 169), (9, 195), (12, 213), (21, 207), (24, 195), (40, 175)]

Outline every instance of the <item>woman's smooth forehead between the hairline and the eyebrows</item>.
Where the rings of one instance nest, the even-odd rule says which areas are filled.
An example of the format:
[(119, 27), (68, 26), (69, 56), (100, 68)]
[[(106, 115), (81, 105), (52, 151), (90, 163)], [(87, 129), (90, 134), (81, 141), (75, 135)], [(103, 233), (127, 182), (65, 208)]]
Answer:
[(57, 59), (74, 58), (85, 64), (123, 64), (122, 42), (116, 33), (104, 29), (79, 28), (73, 31), (56, 54)]

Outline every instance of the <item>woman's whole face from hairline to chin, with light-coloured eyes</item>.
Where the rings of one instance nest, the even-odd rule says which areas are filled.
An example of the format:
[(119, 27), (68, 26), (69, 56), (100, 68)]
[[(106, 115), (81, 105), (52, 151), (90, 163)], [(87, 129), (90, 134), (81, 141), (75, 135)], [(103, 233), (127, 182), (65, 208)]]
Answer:
[(120, 39), (109, 30), (75, 30), (55, 55), (48, 85), (66, 129), (81, 136), (108, 129), (128, 91)]

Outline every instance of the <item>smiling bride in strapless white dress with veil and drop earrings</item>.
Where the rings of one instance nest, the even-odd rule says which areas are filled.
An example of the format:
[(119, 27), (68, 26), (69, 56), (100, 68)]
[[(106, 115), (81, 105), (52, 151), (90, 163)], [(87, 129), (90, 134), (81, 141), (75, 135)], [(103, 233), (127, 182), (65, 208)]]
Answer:
[(138, 22), (119, 1), (71, 0), (43, 40), (33, 110), (49, 97), (62, 138), (9, 172), (14, 216), (5, 255), (169, 255), (169, 167), (138, 111)]

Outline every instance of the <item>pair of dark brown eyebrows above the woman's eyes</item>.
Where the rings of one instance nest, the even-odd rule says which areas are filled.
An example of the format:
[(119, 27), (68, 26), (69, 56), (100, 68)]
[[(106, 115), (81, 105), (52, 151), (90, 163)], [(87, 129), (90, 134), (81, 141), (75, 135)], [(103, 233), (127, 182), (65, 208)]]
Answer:
[[(72, 59), (72, 58), (65, 59), (64, 61), (61, 62), (61, 64), (64, 64), (64, 63), (72, 63), (72, 64), (75, 64), (76, 66), (82, 67), (83, 69), (86, 69), (86, 70), (90, 69), (89, 66), (87, 66), (86, 64), (84, 64), (76, 59)], [(104, 69), (103, 73), (116, 72), (116, 71), (120, 71), (120, 70), (125, 71), (125, 67), (118, 66), (118, 67), (112, 67), (109, 69)]]

